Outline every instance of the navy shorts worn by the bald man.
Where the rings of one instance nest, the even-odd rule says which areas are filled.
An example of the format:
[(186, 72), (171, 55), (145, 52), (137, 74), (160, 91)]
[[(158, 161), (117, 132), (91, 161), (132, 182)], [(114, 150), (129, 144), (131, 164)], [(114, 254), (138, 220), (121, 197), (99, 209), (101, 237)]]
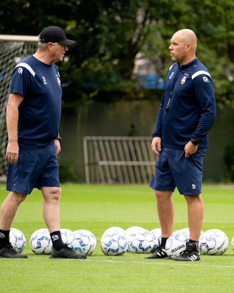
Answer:
[(184, 150), (163, 147), (155, 163), (155, 175), (149, 186), (154, 190), (178, 188), (180, 194), (202, 193), (202, 163), (206, 149), (198, 149), (185, 157)]

